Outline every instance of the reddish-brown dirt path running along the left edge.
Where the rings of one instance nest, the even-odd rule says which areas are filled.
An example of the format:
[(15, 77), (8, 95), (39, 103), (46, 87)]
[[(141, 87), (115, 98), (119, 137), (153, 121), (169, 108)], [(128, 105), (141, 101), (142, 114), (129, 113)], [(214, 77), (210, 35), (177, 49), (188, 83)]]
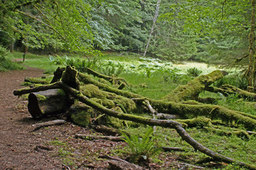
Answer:
[(37, 137), (32, 130), (32, 120), (24, 109), (26, 101), (13, 95), (21, 89), (25, 77), (39, 77), (41, 69), (28, 68), (21, 71), (0, 72), (0, 169), (61, 169), (60, 161), (46, 152), (37, 152), (36, 146), (45, 139)]

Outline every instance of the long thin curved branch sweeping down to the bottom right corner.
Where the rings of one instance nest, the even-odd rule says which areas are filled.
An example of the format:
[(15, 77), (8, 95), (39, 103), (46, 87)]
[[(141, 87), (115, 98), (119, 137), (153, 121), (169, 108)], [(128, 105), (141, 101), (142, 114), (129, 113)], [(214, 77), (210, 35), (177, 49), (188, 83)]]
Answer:
[(119, 113), (117, 111), (112, 111), (110, 109), (105, 108), (104, 106), (100, 105), (99, 103), (96, 103), (94, 101), (90, 101), (89, 98), (83, 96), (80, 91), (77, 91), (70, 86), (67, 86), (66, 84), (63, 84), (60, 82), (60, 86), (65, 89), (65, 91), (68, 91), (70, 94), (72, 94), (75, 98), (78, 98), (79, 101), (87, 104), (88, 106), (91, 106), (92, 108), (95, 108), (97, 111), (101, 111), (102, 113), (105, 113), (107, 115), (124, 119), (124, 120), (132, 120), (137, 123), (143, 123), (146, 125), (157, 125), (161, 126), (164, 128), (174, 128), (178, 134), (181, 136), (183, 140), (188, 142), (189, 145), (191, 145), (194, 149), (197, 149), (200, 152), (203, 152), (204, 154), (208, 155), (209, 157), (213, 157), (213, 159), (216, 159), (221, 162), (225, 162), (228, 164), (236, 163), (239, 164), (240, 166), (246, 167), (247, 169), (256, 169), (256, 166), (247, 164), (244, 162), (239, 162), (234, 159), (230, 159), (229, 157), (225, 157), (221, 154), (218, 154), (216, 152), (213, 152), (212, 150), (208, 149), (207, 147), (204, 147), (200, 143), (198, 143), (196, 140), (194, 140), (184, 128), (182, 128), (180, 123), (177, 123), (174, 120), (155, 120), (151, 118), (144, 118), (142, 116), (138, 115), (130, 115), (126, 113)]

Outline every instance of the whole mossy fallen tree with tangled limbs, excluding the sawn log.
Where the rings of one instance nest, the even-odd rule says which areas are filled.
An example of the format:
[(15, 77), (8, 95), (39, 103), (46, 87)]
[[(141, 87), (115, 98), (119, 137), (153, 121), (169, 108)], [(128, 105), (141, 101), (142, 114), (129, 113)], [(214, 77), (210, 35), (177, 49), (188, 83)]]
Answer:
[[(134, 112), (139, 113), (139, 110), (142, 109), (141, 106), (146, 101), (153, 108), (152, 111), (180, 115), (181, 118), (193, 118), (199, 115), (204, 115), (207, 118), (221, 119), (223, 122), (233, 123), (234, 125), (243, 125), (245, 128), (247, 128), (247, 130), (255, 130), (255, 115), (249, 115), (238, 111), (231, 111), (228, 108), (221, 106), (206, 105), (197, 102), (178, 102), (184, 101), (186, 99), (197, 98), (199, 91), (203, 91), (207, 86), (212, 84), (215, 80), (220, 79), (224, 75), (224, 72), (215, 71), (206, 76), (198, 77), (197, 79), (188, 82), (187, 86), (185, 85), (180, 88), (176, 88), (176, 90), (171, 94), (173, 97), (177, 94), (177, 97), (174, 100), (172, 100), (168, 95), (164, 98), (164, 100), (157, 101), (151, 98), (139, 96), (137, 94), (129, 93), (128, 91), (115, 89), (108, 86), (107, 84), (102, 84), (99, 81), (92, 79), (87, 74), (78, 74), (72, 67), (67, 67), (63, 73), (62, 81), (57, 81), (54, 84), (38, 86), (32, 89), (21, 89), (14, 91), (14, 95), (20, 96), (22, 94), (36, 91), (45, 91), (48, 89), (63, 89), (66, 94), (73, 96), (73, 98), (76, 98), (78, 101), (85, 103), (87, 107), (93, 108), (95, 111), (98, 111), (102, 114), (122, 120), (130, 120), (136, 123), (142, 123), (145, 125), (174, 128), (181, 136), (181, 138), (188, 142), (189, 145), (191, 145), (194, 149), (203, 152), (209, 157), (212, 157), (214, 160), (226, 163), (237, 163), (240, 166), (245, 166), (247, 169), (256, 169), (256, 166), (230, 159), (204, 147), (200, 143), (196, 142), (196, 140), (193, 140), (193, 138), (190, 137), (190, 135), (188, 135), (186, 130), (183, 128), (183, 124), (178, 123), (177, 121), (156, 120), (131, 114)], [(85, 86), (80, 87), (80, 83), (77, 77), (85, 84)], [(183, 94), (184, 91), (186, 91), (186, 95), (191, 97), (186, 97), (185, 94)], [(206, 124), (208, 123), (209, 119), (206, 119)]]

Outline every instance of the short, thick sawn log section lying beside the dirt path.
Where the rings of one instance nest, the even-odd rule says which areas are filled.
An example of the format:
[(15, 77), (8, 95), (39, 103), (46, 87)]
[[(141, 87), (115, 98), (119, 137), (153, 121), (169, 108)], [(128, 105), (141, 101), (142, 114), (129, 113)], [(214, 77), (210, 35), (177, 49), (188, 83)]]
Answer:
[(68, 98), (63, 89), (49, 89), (28, 95), (28, 111), (33, 118), (63, 113), (68, 108)]

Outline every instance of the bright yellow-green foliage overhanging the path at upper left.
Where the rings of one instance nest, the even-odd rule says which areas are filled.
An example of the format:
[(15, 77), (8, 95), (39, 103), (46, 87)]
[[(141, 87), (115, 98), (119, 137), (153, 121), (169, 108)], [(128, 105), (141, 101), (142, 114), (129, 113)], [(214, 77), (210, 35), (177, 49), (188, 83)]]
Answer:
[(93, 51), (89, 4), (82, 0), (39, 2), (1, 1), (1, 33), (36, 49)]

